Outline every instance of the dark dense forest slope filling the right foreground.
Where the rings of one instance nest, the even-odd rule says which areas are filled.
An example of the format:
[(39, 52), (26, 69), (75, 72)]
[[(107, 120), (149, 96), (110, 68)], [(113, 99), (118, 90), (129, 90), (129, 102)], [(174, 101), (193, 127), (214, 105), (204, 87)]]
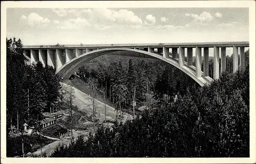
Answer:
[(51, 157), (249, 157), (249, 66)]

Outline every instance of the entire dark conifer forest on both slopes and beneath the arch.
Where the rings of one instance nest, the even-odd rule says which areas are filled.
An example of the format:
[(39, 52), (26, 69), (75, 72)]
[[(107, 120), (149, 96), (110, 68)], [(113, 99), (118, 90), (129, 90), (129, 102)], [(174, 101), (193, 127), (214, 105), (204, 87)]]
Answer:
[[(43, 113), (52, 105), (69, 106), (63, 106), (54, 68), (26, 64), (20, 39), (6, 43), (7, 155), (14, 156), (24, 154), (25, 123), (40, 131)], [(76, 73), (86, 83), (95, 79), (97, 92), (117, 110), (131, 110), (133, 101), (150, 110), (125, 123), (99, 126), (88, 140), (81, 135), (50, 157), (249, 157), (249, 50), (245, 68), (232, 73), (231, 55), (227, 70), (204, 87), (156, 59), (112, 59), (99, 57)], [(212, 77), (213, 61), (209, 64)]]

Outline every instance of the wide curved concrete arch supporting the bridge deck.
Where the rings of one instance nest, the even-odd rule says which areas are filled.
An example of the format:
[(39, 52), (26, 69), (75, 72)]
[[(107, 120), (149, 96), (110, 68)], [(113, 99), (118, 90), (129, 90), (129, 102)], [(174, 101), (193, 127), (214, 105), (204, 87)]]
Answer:
[[(187, 74), (189, 77), (193, 78), (196, 83), (198, 83), (200, 86), (208, 85), (213, 80), (210, 77), (204, 77), (203, 72), (201, 77), (196, 76), (195, 67), (194, 66), (187, 66), (184, 64), (183, 66), (180, 66), (179, 63), (171, 58), (165, 58), (161, 56), (160, 54), (153, 53), (153, 52), (147, 52), (140, 49), (132, 49), (132, 48), (105, 48), (105, 49), (98, 49), (94, 51), (90, 51), (87, 53), (83, 53), (80, 56), (72, 59), (68, 63), (62, 65), (60, 68), (57, 69), (56, 74), (62, 77), (63, 79), (68, 79), (78, 68), (80, 68), (84, 62), (88, 62), (94, 58), (97, 58), (103, 54), (110, 53), (110, 52), (116, 52), (116, 51), (130, 51), (130, 52), (138, 52), (138, 57), (141, 56), (149, 56), (156, 59), (160, 59), (178, 69), (180, 69), (182, 72)], [(129, 55), (128, 55), (129, 56)], [(194, 68), (193, 68), (194, 67)]]

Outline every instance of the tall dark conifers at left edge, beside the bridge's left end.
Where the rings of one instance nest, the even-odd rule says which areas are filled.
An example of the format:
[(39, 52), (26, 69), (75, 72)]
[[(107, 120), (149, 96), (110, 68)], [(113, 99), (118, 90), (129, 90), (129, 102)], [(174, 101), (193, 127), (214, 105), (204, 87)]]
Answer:
[(41, 120), (45, 118), (43, 113), (57, 103), (61, 88), (54, 68), (44, 67), (40, 62), (27, 64), (22, 47), (22, 40), (6, 38), (7, 156), (24, 154), (22, 151), (30, 148), (24, 145), (27, 138), (23, 135), (24, 124), (40, 131)]

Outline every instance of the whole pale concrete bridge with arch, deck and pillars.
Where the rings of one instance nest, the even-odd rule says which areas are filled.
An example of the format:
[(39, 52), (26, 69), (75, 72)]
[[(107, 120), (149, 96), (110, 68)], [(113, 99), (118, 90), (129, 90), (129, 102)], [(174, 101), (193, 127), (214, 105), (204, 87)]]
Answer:
[[(157, 58), (167, 62), (188, 76), (200, 86), (210, 84), (209, 77), (209, 48), (214, 48), (214, 79), (226, 70), (226, 47), (233, 48), (233, 72), (245, 66), (245, 47), (249, 42), (211, 42), (211, 43), (164, 43), (164, 44), (97, 44), (97, 45), (51, 45), (24, 46), (24, 55), (31, 59), (31, 63), (40, 61), (54, 67), (56, 73), (63, 79), (68, 79), (84, 62), (88, 62), (106, 53), (129, 51), (128, 56)], [(196, 67), (193, 63), (193, 48), (196, 49)], [(238, 49), (239, 48), (239, 49)], [(185, 49), (187, 61), (185, 61)], [(169, 55), (172, 50), (172, 55)], [(220, 51), (221, 50), (221, 51)], [(238, 52), (240, 50), (240, 53)], [(203, 70), (201, 70), (203, 52)], [(221, 52), (221, 58), (220, 58)], [(240, 54), (240, 55), (239, 55)], [(239, 63), (240, 58), (240, 63)], [(219, 61), (221, 60), (221, 69)]]

